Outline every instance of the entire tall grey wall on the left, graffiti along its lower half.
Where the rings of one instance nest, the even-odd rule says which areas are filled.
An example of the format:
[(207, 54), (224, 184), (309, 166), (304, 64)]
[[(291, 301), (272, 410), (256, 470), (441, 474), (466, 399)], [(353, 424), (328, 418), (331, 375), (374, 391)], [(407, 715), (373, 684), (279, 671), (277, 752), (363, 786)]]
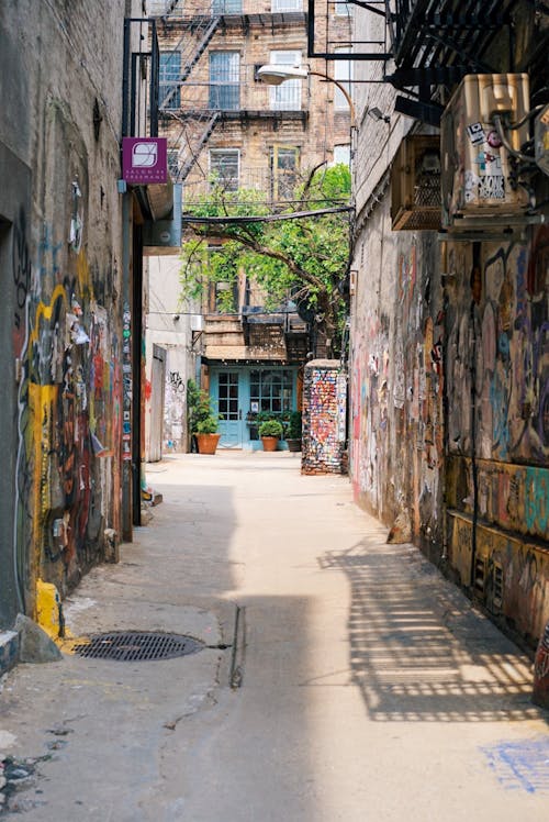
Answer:
[(0, 197), (5, 623), (33, 615), (38, 578), (65, 593), (119, 530), (123, 16), (123, 2), (0, 9), (1, 177), (15, 198)]

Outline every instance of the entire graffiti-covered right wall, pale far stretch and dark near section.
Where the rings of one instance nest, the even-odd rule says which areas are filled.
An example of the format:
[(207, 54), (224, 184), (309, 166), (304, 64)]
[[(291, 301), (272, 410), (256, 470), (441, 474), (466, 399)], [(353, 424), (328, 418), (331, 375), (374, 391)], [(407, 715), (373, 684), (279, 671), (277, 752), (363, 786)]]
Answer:
[(358, 235), (351, 336), (358, 503), (533, 645), (549, 619), (548, 260), (547, 227), (439, 248), (391, 233), (383, 203)]

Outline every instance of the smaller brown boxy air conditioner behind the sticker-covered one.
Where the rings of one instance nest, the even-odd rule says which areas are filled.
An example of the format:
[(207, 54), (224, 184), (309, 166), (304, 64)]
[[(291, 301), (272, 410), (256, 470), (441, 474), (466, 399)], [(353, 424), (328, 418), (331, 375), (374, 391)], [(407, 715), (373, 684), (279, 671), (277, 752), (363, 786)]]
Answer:
[(391, 169), (393, 231), (440, 229), (440, 138), (404, 137)]

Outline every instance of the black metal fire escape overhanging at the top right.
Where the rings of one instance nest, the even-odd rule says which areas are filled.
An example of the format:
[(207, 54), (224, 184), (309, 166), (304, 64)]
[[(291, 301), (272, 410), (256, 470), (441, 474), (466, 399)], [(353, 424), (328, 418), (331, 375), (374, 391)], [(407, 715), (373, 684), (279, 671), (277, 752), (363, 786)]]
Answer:
[[(336, 52), (329, 25), (323, 25), (328, 0), (309, 0), (309, 56), (381, 63), (380, 81), (403, 92), (394, 107), (402, 114), (440, 125), (451, 91), (468, 74), (528, 71), (534, 92), (547, 86), (544, 0), (348, 0), (348, 5), (366, 12), (366, 30), (383, 34)], [(527, 51), (520, 42), (526, 26), (534, 32), (524, 37)]]

